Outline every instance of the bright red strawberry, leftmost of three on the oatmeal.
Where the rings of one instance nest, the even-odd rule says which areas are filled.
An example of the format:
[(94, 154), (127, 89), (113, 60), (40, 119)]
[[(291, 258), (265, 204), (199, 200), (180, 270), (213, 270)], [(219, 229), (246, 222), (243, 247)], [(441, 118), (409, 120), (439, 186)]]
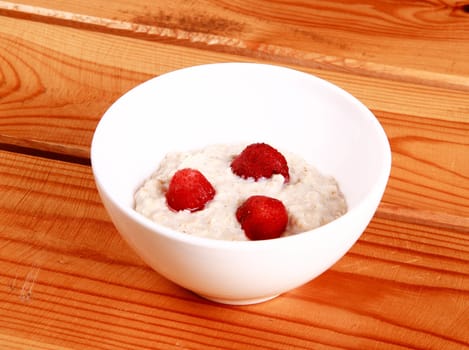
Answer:
[(215, 189), (196, 169), (185, 168), (174, 173), (166, 192), (166, 202), (176, 210), (201, 210), (213, 199)]

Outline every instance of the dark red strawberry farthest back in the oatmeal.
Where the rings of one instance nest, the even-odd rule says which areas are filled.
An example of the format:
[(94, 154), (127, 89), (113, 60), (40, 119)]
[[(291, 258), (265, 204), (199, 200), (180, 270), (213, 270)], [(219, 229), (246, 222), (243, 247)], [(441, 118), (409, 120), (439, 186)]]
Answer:
[(290, 180), (288, 164), (285, 157), (266, 143), (253, 143), (247, 146), (231, 162), (231, 170), (242, 178), (264, 177), (269, 179), (274, 174), (283, 175), (285, 182)]

